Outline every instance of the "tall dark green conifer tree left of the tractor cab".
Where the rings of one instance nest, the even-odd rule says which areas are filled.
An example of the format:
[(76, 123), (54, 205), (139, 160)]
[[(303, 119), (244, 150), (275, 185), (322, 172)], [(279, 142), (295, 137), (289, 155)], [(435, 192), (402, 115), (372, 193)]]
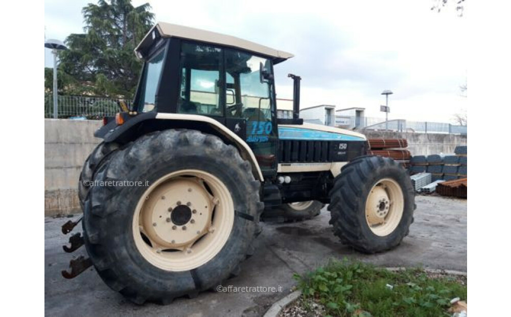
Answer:
[(133, 50), (153, 24), (150, 9), (148, 3), (133, 7), (131, 0), (84, 7), (85, 33), (69, 35), (68, 50), (59, 52), (59, 81), (65, 74), (59, 93), (132, 98), (142, 66)]

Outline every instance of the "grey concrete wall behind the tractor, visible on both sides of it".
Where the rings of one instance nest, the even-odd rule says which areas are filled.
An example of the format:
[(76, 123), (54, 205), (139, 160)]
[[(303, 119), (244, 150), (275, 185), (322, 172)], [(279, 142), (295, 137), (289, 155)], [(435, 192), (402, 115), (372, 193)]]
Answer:
[[(322, 109), (322, 108), (321, 108)], [(101, 141), (94, 131), (101, 121), (44, 120), (44, 215), (80, 211), (78, 178), (83, 162)], [(367, 138), (408, 140), (412, 155), (454, 153), (456, 145), (466, 145), (466, 135), (369, 131)]]

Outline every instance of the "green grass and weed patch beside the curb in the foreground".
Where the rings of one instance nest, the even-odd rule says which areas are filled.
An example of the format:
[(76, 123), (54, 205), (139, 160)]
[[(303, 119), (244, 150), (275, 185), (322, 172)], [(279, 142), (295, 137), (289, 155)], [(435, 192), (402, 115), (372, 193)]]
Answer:
[(331, 316), (450, 316), (451, 299), (467, 300), (466, 283), (420, 268), (393, 272), (344, 259), (294, 278)]

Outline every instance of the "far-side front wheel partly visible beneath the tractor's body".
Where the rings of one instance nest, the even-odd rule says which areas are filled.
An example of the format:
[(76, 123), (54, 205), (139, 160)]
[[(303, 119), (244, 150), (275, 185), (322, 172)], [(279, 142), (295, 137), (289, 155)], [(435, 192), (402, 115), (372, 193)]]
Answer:
[(317, 200), (283, 203), (266, 209), (261, 217), (263, 221), (303, 221), (318, 216), (323, 207), (324, 203)]

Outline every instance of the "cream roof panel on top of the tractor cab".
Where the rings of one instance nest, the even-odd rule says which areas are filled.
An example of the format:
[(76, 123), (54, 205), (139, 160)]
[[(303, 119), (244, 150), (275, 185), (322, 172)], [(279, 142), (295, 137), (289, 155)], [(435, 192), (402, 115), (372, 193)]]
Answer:
[[(153, 31), (156, 30), (156, 34), (153, 36)], [(135, 52), (141, 52), (142, 48), (146, 48), (150, 46), (150, 43), (157, 36), (161, 37), (178, 37), (184, 39), (190, 39), (200, 42), (212, 43), (212, 44), (220, 44), (222, 46), (228, 46), (233, 48), (238, 48), (246, 51), (250, 51), (253, 53), (258, 53), (261, 55), (272, 57), (273, 63), (280, 63), (285, 61), (288, 58), (293, 57), (294, 55), (291, 53), (287, 53), (284, 51), (275, 50), (266, 46), (263, 46), (258, 43), (254, 43), (251, 41), (247, 41), (235, 36), (220, 34), (211, 31), (205, 31), (185, 26), (180, 26), (176, 24), (170, 24), (166, 22), (158, 22), (154, 27), (149, 30), (144, 39), (135, 49)]]

